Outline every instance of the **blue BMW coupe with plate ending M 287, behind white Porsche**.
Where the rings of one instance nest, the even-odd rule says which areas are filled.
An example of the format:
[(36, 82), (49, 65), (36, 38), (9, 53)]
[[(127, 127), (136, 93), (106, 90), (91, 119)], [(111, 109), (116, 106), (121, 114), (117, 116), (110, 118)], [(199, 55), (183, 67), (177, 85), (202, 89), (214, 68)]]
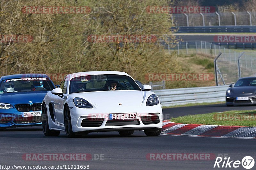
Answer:
[(0, 78), (0, 129), (42, 124), (41, 105), (55, 88), (45, 74), (16, 74)]

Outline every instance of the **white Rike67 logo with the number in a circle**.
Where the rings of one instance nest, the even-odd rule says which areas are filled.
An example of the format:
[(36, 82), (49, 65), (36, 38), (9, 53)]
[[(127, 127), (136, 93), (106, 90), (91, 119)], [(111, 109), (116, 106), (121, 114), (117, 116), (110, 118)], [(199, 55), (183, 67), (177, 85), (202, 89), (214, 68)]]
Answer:
[(239, 166), (243, 166), (245, 169), (251, 169), (254, 166), (254, 159), (251, 156), (245, 156), (242, 161), (240, 160), (230, 160), (230, 157), (225, 157), (224, 159), (221, 157), (217, 157), (214, 163), (214, 168), (238, 168)]

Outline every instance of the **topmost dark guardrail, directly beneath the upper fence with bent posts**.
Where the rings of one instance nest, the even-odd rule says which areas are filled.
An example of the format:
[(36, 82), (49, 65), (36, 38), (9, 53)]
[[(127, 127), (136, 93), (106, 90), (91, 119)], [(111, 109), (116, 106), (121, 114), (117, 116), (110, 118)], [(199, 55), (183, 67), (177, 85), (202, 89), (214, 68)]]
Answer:
[(256, 26), (177, 26), (177, 33), (256, 33)]

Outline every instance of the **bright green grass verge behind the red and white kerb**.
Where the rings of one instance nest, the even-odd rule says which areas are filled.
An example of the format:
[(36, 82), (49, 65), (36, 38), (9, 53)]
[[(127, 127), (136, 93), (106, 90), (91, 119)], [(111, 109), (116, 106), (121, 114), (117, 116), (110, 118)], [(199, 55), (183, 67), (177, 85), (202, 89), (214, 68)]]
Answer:
[(256, 110), (226, 111), (203, 115), (188, 115), (172, 118), (175, 123), (211, 124), (224, 126), (256, 126)]

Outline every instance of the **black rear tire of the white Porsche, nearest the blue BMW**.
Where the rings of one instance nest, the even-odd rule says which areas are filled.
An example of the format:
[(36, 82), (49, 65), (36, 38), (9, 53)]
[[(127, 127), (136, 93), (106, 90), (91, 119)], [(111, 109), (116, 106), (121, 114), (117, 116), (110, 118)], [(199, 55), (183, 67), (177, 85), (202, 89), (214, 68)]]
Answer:
[(42, 109), (42, 116), (43, 116), (42, 126), (43, 126), (44, 135), (47, 136), (47, 137), (48, 136), (59, 136), (60, 131), (49, 129), (47, 108), (46, 108), (45, 105), (43, 106), (43, 109)]

